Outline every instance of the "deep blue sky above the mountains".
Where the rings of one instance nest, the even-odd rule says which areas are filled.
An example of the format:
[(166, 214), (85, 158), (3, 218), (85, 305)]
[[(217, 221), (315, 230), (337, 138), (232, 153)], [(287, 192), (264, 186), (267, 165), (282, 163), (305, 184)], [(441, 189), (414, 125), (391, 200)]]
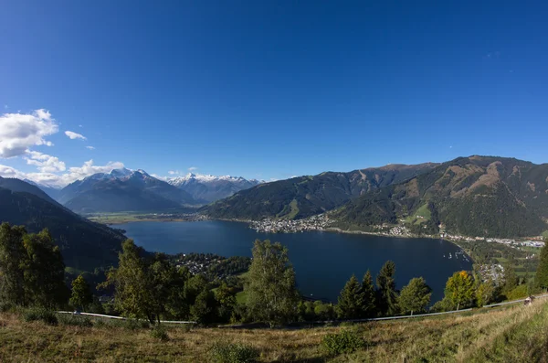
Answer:
[(5, 2), (0, 172), (548, 162), (548, 5), (404, 3)]

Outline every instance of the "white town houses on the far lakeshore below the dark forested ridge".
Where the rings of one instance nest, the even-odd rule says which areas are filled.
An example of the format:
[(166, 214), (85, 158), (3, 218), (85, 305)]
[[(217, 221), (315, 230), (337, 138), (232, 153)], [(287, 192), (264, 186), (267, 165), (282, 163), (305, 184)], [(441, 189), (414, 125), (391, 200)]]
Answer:
[(329, 227), (331, 220), (324, 214), (312, 216), (307, 219), (263, 219), (253, 221), (249, 228), (258, 232), (266, 233), (293, 233), (305, 230), (325, 230)]

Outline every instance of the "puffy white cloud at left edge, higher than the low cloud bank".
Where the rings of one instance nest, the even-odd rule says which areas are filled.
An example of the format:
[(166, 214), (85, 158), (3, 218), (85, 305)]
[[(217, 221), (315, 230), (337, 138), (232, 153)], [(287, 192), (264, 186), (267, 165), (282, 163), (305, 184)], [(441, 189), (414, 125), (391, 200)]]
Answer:
[(0, 116), (0, 157), (25, 155), (35, 145), (52, 146), (46, 136), (58, 132), (58, 124), (47, 110), (4, 113)]

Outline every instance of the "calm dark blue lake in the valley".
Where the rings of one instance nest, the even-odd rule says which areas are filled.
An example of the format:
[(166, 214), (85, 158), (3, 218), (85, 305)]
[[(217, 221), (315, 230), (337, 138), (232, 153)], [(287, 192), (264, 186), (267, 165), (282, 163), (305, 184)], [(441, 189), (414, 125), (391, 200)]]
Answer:
[[(460, 248), (445, 240), (402, 239), (311, 231), (258, 233), (248, 224), (227, 221), (134, 222), (114, 226), (147, 251), (165, 253), (211, 252), (221, 256), (251, 256), (253, 241), (279, 241), (288, 246), (301, 294), (336, 301), (344, 283), (355, 273), (373, 276), (387, 260), (395, 262), (395, 281), (401, 289), (423, 276), (432, 287), (432, 302), (443, 297), (448, 277), (471, 270)], [(459, 252), (455, 257), (455, 252)], [(452, 258), (449, 259), (449, 253)], [(445, 257), (444, 257), (445, 256)]]

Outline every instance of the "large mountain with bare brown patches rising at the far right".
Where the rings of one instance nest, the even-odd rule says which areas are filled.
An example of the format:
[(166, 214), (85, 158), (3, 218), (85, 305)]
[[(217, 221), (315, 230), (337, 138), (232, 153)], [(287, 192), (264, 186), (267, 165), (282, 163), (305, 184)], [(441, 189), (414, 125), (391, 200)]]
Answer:
[(548, 230), (548, 164), (470, 156), (382, 187), (332, 212), (345, 228), (406, 221), (416, 230), (520, 237)]

